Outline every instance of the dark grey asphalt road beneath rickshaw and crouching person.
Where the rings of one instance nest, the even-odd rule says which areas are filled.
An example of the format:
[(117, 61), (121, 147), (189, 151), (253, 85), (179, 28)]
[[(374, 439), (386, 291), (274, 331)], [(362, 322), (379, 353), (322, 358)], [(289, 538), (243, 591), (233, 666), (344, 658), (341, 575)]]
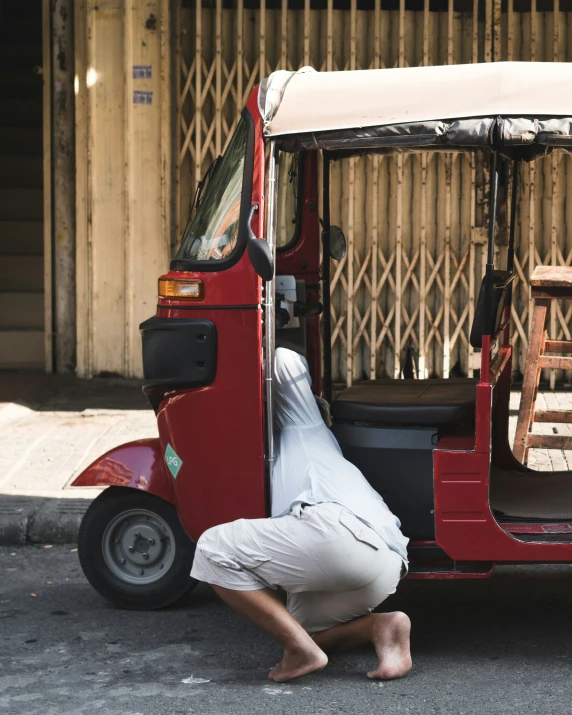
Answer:
[(277, 685), (266, 673), (279, 647), (205, 586), (177, 608), (119, 611), (71, 547), (1, 548), (0, 713), (570, 713), (571, 603), (565, 566), (404, 582), (387, 609), (413, 621), (407, 678), (367, 680), (364, 648)]

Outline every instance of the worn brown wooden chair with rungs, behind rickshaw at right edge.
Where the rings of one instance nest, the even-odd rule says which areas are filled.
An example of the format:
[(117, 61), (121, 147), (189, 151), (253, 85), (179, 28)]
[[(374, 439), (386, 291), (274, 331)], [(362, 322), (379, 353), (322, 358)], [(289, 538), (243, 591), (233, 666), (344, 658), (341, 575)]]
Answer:
[(572, 435), (532, 434), (535, 422), (572, 423), (572, 411), (536, 410), (540, 371), (543, 368), (572, 369), (572, 357), (546, 354), (572, 353), (572, 341), (547, 338), (551, 301), (572, 300), (572, 268), (537, 266), (532, 273), (530, 287), (534, 300), (532, 328), (513, 448), (515, 457), (523, 464), (528, 462), (528, 451), (531, 447), (572, 449)]

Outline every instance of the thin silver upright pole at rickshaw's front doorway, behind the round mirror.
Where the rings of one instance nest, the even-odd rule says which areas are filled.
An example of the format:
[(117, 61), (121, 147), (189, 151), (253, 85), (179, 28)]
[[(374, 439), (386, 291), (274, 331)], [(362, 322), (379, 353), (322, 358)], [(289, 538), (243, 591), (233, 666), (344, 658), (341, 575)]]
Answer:
[[(268, 210), (266, 240), (276, 265), (276, 207), (278, 204), (278, 152), (276, 142), (270, 144), (268, 171)], [(270, 499), (272, 500), (272, 472), (274, 470), (274, 278), (264, 286), (264, 393), (266, 396), (266, 464)], [(272, 503), (272, 501), (271, 501)]]

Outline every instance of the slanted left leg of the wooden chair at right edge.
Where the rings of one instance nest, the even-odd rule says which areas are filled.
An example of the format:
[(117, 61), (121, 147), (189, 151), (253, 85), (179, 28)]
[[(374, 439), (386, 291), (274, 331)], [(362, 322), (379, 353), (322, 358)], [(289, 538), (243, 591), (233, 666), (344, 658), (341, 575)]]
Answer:
[(546, 322), (549, 307), (549, 300), (536, 299), (534, 302), (532, 328), (513, 447), (514, 456), (519, 462), (522, 462), (522, 464), (528, 462), (528, 433), (532, 428), (532, 422), (534, 420), (538, 383), (540, 381), (540, 368), (538, 364), (546, 343)]

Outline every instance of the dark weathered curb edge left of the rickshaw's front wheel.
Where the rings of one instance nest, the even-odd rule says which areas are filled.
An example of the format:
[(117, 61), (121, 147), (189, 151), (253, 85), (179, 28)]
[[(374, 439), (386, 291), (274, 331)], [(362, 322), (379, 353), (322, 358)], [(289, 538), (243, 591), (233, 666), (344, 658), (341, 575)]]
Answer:
[(0, 496), (0, 546), (75, 544), (91, 499)]

